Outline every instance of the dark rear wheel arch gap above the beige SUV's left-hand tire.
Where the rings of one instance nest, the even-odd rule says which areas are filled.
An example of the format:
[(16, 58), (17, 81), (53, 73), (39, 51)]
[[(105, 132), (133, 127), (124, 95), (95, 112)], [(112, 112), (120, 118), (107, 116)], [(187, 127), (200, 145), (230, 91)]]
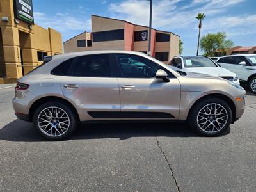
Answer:
[(28, 114), (29, 114), (29, 120), (31, 122), (33, 120), (33, 114), (35, 113), (36, 108), (38, 108), (38, 106), (40, 106), (44, 102), (49, 102), (49, 101), (51, 102), (55, 101), (55, 102), (61, 102), (62, 104), (67, 104), (67, 106), (69, 106), (70, 109), (74, 111), (75, 115), (80, 120), (77, 109), (74, 107), (74, 105), (71, 102), (58, 96), (46, 96), (46, 97), (41, 97), (40, 99), (35, 100), (35, 102), (33, 102), (33, 104), (30, 106)]

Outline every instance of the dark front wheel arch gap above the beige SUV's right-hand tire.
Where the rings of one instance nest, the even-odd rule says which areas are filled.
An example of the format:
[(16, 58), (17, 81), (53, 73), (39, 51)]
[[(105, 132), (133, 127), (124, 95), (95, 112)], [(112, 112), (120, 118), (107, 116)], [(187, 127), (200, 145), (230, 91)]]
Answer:
[(225, 102), (228, 103), (228, 105), (230, 106), (230, 109), (232, 111), (232, 121), (231, 122), (232, 122), (232, 124), (235, 122), (235, 120), (236, 120), (236, 106), (235, 106), (234, 102), (227, 95), (223, 95), (221, 93), (211, 93), (211, 94), (208, 94), (208, 95), (204, 95), (203, 97), (200, 97), (200, 99), (196, 100), (196, 102), (194, 102), (193, 105), (191, 106), (191, 108), (189, 109), (188, 117), (190, 116), (192, 109), (195, 108), (195, 106), (198, 103), (200, 103), (202, 100), (205, 100), (207, 98), (218, 98), (218, 99), (225, 100)]

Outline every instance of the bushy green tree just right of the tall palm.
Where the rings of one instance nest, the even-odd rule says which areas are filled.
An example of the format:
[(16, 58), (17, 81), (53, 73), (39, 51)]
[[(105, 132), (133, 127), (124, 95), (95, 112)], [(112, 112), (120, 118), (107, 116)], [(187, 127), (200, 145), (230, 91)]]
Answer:
[(204, 51), (205, 56), (214, 56), (214, 52), (218, 49), (225, 51), (234, 46), (232, 40), (226, 40), (225, 32), (208, 33), (200, 40), (201, 50)]

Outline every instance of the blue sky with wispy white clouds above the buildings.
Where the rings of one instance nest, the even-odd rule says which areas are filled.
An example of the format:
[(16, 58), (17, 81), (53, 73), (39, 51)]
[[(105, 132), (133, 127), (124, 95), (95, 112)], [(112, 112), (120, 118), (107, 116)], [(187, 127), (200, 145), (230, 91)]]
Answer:
[[(63, 42), (91, 31), (91, 15), (148, 25), (146, 0), (34, 0), (36, 24), (62, 34)], [(184, 42), (184, 55), (196, 54), (197, 13), (204, 12), (202, 35), (224, 31), (235, 45), (256, 45), (256, 0), (153, 0), (152, 27), (172, 31)]]

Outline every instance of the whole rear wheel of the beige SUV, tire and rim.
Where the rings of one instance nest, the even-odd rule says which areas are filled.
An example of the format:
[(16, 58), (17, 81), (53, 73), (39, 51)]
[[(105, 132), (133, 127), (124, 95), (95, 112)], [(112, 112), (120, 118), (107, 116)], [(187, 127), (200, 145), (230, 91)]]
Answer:
[(68, 138), (75, 131), (77, 122), (76, 113), (71, 108), (55, 101), (40, 105), (33, 115), (36, 131), (52, 141)]

